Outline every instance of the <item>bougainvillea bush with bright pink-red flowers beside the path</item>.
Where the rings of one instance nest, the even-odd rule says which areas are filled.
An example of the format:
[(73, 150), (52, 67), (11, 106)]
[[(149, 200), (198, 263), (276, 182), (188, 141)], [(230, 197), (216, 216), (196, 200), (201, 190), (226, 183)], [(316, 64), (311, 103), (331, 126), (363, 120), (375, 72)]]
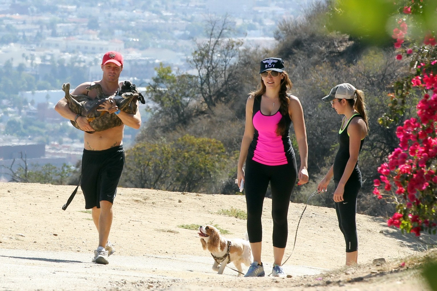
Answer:
[(399, 51), (396, 58), (411, 60), (411, 75), (394, 84), (391, 108), (380, 123), (386, 125), (402, 115), (412, 92), (421, 92), (417, 117), (397, 128), (399, 147), (378, 168), (380, 178), (375, 179), (373, 191), (379, 199), (396, 204), (388, 226), (416, 236), (437, 230), (437, 42), (433, 28), (421, 23), (423, 15), (436, 13), (436, 7), (424, 2), (430, 1), (401, 1), (406, 5), (399, 9), (392, 37)]

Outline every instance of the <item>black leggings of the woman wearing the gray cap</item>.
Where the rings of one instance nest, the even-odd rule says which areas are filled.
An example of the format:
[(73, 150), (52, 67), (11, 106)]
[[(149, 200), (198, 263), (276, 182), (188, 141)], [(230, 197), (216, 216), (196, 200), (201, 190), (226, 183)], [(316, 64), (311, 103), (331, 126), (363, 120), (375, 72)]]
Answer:
[[(362, 181), (357, 178), (349, 178), (344, 186), (343, 199), (341, 202), (334, 202), (337, 212), (338, 226), (343, 233), (346, 242), (346, 253), (358, 250), (357, 223), (355, 216), (357, 213), (358, 191), (361, 189)], [(335, 188), (338, 182), (334, 181)]]

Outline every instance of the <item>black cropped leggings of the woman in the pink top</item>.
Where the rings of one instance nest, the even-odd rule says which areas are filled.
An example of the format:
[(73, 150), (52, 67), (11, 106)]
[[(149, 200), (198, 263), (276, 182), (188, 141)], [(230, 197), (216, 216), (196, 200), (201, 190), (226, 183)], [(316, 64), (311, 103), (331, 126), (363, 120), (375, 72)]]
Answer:
[(247, 234), (251, 243), (262, 241), (261, 215), (264, 197), (270, 182), (272, 192), (273, 246), (284, 248), (288, 236), (288, 205), (298, 175), (296, 159), (291, 163), (268, 166), (246, 160), (244, 174), (247, 205)]

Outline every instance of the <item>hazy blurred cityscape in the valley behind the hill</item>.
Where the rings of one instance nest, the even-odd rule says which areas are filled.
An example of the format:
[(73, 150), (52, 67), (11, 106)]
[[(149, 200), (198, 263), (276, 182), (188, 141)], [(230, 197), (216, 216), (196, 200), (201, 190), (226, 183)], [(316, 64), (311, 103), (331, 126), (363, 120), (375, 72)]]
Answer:
[[(205, 38), (208, 19), (226, 16), (232, 37), (244, 46), (272, 47), (278, 22), (298, 17), (312, 2), (0, 0), (0, 165), (10, 167), (24, 155), (29, 166), (76, 164), (83, 133), (54, 105), (64, 95), (63, 82), (75, 88), (101, 79), (104, 52), (120, 51), (120, 80), (144, 90), (160, 63), (194, 73), (187, 58)], [(137, 133), (126, 127), (124, 144), (133, 144)], [(0, 181), (7, 173), (0, 167)]]

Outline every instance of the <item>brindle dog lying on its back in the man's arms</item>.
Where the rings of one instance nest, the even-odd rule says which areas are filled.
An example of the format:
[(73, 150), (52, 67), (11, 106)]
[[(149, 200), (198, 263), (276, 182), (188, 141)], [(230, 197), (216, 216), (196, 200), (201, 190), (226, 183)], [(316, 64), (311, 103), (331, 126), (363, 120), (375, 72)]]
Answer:
[[(65, 99), (67, 99), (69, 103), (69, 108), (76, 114), (80, 114), (82, 116), (86, 116), (90, 126), (95, 131), (103, 131), (110, 129), (112, 127), (118, 127), (123, 122), (116, 114), (109, 114), (107, 111), (97, 111), (97, 108), (100, 107), (102, 103), (107, 100), (110, 100), (111, 103), (115, 102), (115, 105), (118, 106), (119, 110), (123, 110), (126, 113), (135, 114), (137, 111), (136, 100), (139, 100), (142, 104), (145, 104), (146, 101), (142, 94), (138, 91), (136, 86), (132, 84), (131, 81), (126, 80), (121, 85), (121, 88), (118, 92), (115, 93), (113, 100), (109, 99), (103, 93), (103, 89), (100, 84), (94, 84), (88, 86), (86, 88), (88, 91), (93, 89), (97, 90), (97, 97), (95, 99), (91, 99), (87, 95), (71, 95), (70, 94), (70, 83), (64, 83), (62, 85), (62, 90), (65, 92)], [(121, 96), (121, 97), (118, 97)], [(118, 97), (118, 98), (117, 98)], [(80, 127), (73, 120), (70, 120), (71, 124), (77, 129)], [(86, 131), (89, 134), (93, 134), (94, 131)]]

